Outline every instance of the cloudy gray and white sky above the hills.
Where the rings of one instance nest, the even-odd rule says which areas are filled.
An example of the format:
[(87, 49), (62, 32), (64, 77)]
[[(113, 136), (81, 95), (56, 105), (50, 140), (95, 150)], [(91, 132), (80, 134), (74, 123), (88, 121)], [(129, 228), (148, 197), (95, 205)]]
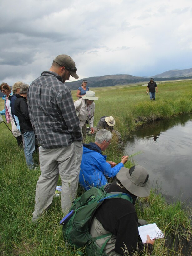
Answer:
[(1, 0), (0, 12), (0, 82), (11, 86), (59, 54), (80, 79), (192, 67), (191, 0)]

